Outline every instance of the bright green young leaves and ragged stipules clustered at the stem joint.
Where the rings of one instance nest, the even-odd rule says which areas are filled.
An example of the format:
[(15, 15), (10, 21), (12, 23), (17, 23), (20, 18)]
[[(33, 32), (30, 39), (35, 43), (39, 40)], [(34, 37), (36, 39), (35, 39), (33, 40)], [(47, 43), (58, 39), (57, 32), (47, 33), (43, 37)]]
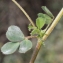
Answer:
[(43, 37), (43, 35), (45, 34), (45, 29), (44, 30), (41, 30), (42, 28), (43, 28), (43, 26), (45, 25), (45, 24), (47, 24), (47, 25), (49, 25), (51, 22), (52, 22), (52, 20), (53, 20), (53, 18), (51, 18), (51, 17), (53, 17), (53, 14), (45, 7), (45, 6), (43, 6), (42, 7), (43, 8), (43, 10), (49, 15), (47, 15), (47, 14), (43, 14), (43, 13), (38, 13), (37, 15), (38, 15), (38, 17), (37, 17), (37, 19), (36, 19), (36, 27), (33, 27), (32, 25), (30, 25), (29, 24), (29, 26), (28, 26), (28, 29), (29, 29), (29, 31), (31, 31), (31, 35), (35, 35), (35, 36), (37, 36), (37, 37), (39, 37), (39, 38), (42, 38)]

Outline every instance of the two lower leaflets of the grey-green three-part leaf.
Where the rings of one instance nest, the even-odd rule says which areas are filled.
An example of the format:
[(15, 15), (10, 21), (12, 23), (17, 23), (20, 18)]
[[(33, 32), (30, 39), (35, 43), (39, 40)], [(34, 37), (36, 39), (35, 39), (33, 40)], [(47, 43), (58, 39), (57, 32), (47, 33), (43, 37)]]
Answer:
[(20, 53), (25, 53), (32, 48), (30, 40), (23, 40), (22, 42), (8, 42), (1, 48), (3, 54), (12, 54), (19, 48)]

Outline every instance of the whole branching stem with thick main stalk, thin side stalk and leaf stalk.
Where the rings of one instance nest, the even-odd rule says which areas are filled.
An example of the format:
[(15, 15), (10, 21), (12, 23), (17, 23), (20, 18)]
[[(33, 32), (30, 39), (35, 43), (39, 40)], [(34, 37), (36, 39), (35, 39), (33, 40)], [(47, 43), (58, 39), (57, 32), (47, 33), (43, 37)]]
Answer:
[[(20, 10), (26, 15), (26, 17), (28, 18), (28, 20), (30, 21), (30, 23), (35, 27), (33, 21), (31, 20), (31, 18), (29, 17), (29, 15), (25, 12), (25, 10), (15, 1), (12, 0), (19, 8)], [(61, 11), (59, 12), (59, 14), (57, 15), (57, 17), (55, 18), (55, 20), (53, 21), (53, 23), (51, 24), (51, 26), (48, 28), (48, 30), (46, 31), (46, 33), (44, 34), (44, 36), (42, 37), (42, 41), (45, 41), (47, 39), (47, 37), (50, 35), (50, 33), (52, 32), (52, 30), (54, 29), (54, 27), (56, 26), (56, 24), (59, 22), (59, 20), (61, 19), (63, 15), (63, 8), (61, 9)], [(35, 36), (28, 36), (27, 39), (29, 38), (34, 38)], [(34, 63), (37, 54), (41, 48), (42, 45), (42, 41), (38, 41), (36, 48), (32, 54), (31, 60), (29, 63)]]

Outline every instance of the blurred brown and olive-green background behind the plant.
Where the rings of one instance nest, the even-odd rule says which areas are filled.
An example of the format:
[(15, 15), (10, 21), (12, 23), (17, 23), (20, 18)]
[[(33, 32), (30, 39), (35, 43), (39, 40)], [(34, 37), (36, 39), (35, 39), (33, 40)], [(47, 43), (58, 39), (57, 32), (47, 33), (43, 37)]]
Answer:
[[(56, 17), (63, 7), (63, 0), (17, 0), (26, 10), (35, 23), (37, 14), (43, 12), (41, 6), (47, 6)], [(11, 0), (0, 0), (0, 49), (8, 42), (6, 31), (10, 25), (17, 25), (24, 35), (30, 35), (28, 31), (29, 21), (20, 9)], [(25, 54), (15, 52), (11, 55), (3, 55), (0, 50), (0, 63), (29, 63), (36, 39), (31, 39), (33, 48)], [(45, 41), (35, 63), (63, 63), (63, 17)]]

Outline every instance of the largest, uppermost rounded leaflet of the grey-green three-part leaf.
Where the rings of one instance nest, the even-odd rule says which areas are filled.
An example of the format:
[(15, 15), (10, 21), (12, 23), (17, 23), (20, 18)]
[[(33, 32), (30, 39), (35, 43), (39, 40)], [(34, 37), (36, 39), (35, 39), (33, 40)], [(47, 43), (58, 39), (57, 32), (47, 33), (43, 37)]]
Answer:
[(19, 27), (12, 25), (8, 28), (6, 32), (6, 37), (11, 42), (17, 42), (24, 39), (24, 34), (22, 33)]

